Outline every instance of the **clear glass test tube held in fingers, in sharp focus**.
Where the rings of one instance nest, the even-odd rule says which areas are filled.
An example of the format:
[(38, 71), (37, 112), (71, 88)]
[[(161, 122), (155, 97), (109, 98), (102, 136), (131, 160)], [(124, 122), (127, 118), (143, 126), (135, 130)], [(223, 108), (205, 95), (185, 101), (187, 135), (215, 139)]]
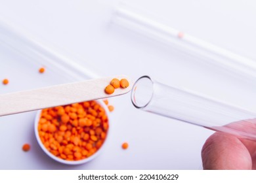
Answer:
[(131, 100), (147, 112), (256, 141), (256, 112), (161, 84), (149, 76), (135, 82)]

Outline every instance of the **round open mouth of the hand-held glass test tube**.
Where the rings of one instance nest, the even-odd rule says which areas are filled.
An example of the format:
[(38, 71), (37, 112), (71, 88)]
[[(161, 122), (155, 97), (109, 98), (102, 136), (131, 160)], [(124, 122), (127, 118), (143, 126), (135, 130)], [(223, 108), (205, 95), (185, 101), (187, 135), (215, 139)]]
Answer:
[(136, 108), (146, 107), (153, 97), (153, 82), (149, 76), (140, 77), (131, 91), (131, 101)]

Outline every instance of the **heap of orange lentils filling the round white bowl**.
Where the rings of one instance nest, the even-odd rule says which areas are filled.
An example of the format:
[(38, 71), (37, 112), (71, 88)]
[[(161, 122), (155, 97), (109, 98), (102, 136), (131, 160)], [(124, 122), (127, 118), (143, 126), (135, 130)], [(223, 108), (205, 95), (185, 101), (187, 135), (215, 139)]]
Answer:
[(51, 154), (77, 161), (93, 156), (102, 146), (108, 133), (108, 116), (96, 101), (46, 108), (37, 129)]

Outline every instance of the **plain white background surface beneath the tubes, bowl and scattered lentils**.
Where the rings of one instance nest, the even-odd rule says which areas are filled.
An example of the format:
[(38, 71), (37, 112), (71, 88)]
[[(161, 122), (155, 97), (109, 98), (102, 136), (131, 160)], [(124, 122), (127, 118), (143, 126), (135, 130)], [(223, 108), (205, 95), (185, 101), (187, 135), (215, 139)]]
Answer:
[[(138, 8), (148, 18), (256, 58), (254, 1), (10, 0), (0, 1), (0, 15), (100, 76), (125, 74), (137, 79), (150, 75), (165, 84), (178, 84), (243, 108), (255, 108), (252, 84), (114, 24), (114, 9), (119, 2)], [(36, 73), (38, 63), (12, 59), (0, 60), (1, 78), (13, 80), (7, 87), (0, 86), (1, 93), (72, 80), (51, 71), (42, 78)], [(35, 72), (30, 73), (32, 70)], [(74, 167), (43, 154), (33, 135), (35, 112), (1, 117), (0, 169), (202, 169), (201, 148), (212, 131), (137, 110), (129, 97), (110, 99), (116, 110), (104, 152)], [(125, 151), (121, 149), (124, 141), (130, 145)], [(21, 150), (25, 142), (32, 144), (28, 153)]]

